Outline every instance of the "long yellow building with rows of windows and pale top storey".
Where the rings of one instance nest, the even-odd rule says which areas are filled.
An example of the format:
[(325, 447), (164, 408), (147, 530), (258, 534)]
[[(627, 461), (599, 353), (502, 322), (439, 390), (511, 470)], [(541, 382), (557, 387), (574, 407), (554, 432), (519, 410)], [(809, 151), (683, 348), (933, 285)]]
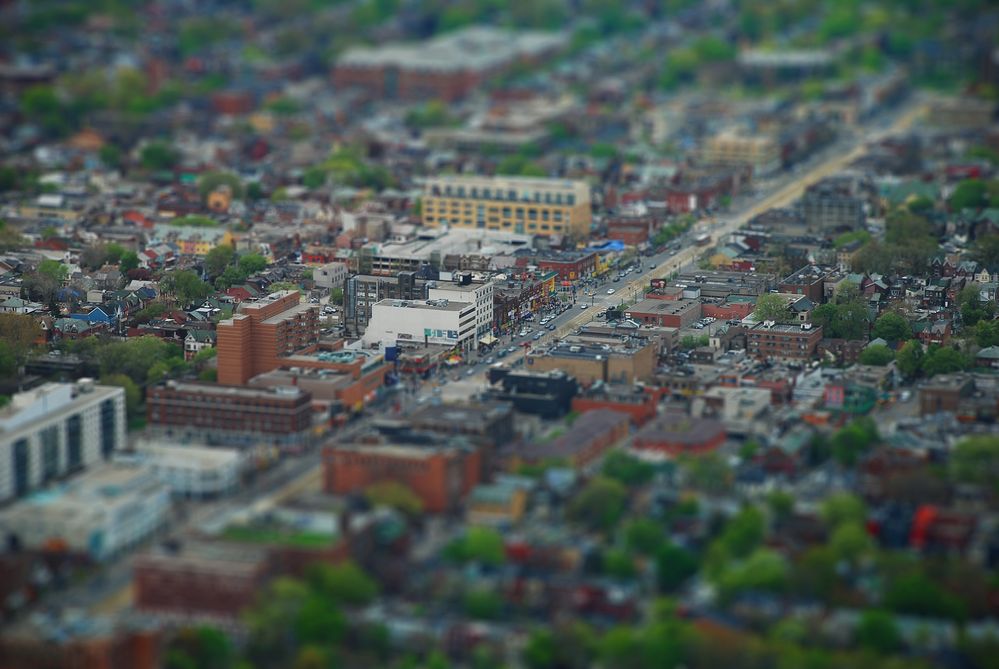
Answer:
[(585, 239), (592, 221), (583, 181), (445, 176), (423, 189), (423, 225), (568, 235)]

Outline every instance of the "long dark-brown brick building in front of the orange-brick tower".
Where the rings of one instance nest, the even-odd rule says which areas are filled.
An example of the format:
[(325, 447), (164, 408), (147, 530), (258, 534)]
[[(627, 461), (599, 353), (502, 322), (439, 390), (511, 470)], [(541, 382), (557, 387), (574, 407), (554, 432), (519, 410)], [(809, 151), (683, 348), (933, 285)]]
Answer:
[(149, 425), (228, 442), (301, 444), (312, 428), (312, 398), (299, 388), (251, 389), (168, 381), (146, 393)]

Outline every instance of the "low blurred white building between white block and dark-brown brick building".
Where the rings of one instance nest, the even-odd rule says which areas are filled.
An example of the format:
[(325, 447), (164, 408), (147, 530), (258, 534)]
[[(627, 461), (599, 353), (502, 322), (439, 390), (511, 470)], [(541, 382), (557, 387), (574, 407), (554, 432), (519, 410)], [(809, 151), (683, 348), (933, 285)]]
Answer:
[(142, 440), (116, 462), (149, 468), (157, 480), (180, 497), (210, 498), (232, 492), (243, 472), (243, 453), (233, 448)]

